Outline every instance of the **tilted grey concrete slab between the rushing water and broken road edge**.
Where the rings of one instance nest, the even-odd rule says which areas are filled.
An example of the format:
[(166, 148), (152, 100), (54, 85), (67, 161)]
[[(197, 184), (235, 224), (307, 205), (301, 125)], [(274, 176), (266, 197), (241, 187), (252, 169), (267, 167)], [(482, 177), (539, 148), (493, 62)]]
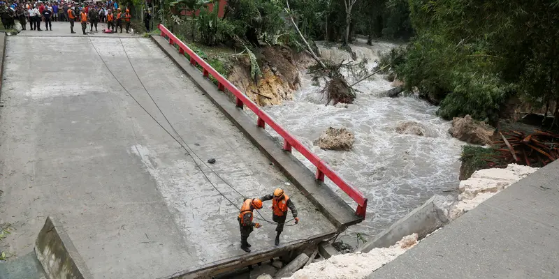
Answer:
[(369, 252), (374, 248), (388, 248), (410, 234), (419, 234), (419, 239), (423, 239), (427, 234), (435, 232), (436, 229), (449, 223), (442, 205), (445, 201), (447, 201), (447, 197), (431, 197), (425, 204), (398, 220), (377, 235), (375, 239), (358, 248), (357, 251)]

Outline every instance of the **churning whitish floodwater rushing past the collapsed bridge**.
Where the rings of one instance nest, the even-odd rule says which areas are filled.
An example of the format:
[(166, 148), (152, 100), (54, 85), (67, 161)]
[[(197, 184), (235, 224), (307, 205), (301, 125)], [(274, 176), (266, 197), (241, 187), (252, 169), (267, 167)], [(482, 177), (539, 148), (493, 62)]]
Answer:
[[(372, 62), (377, 58), (377, 50), (390, 47), (382, 43), (372, 49), (363, 45), (353, 49), (359, 58), (366, 56)], [(347, 52), (323, 50), (323, 56), (325, 52), (328, 56), (348, 58)], [(318, 93), (320, 87), (312, 86), (310, 77), (304, 75), (294, 100), (263, 109), (368, 197), (366, 220), (350, 231), (364, 233), (365, 238), (371, 239), (433, 195), (456, 188), (463, 142), (449, 135), (450, 123), (435, 115), (437, 107), (415, 97), (379, 96), (392, 88), (381, 76), (361, 82), (356, 88), (361, 92), (354, 104), (325, 106)], [(428, 133), (433, 137), (400, 135), (395, 127), (401, 121), (422, 123), (430, 128)], [(353, 150), (326, 151), (312, 144), (330, 126), (347, 127), (355, 134)], [(276, 133), (270, 134), (282, 142)], [(299, 153), (293, 154), (316, 171)], [(356, 208), (337, 186), (328, 179), (326, 183)], [(350, 239), (347, 242), (355, 243)]]

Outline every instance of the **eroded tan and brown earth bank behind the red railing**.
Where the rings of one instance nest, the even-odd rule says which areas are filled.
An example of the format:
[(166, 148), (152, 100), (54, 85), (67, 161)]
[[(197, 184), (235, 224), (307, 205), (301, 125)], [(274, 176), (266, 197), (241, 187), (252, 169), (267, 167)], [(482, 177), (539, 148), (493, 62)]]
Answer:
[(300, 86), (300, 70), (312, 64), (307, 54), (298, 54), (279, 46), (263, 47), (255, 55), (262, 72), (257, 83), (250, 77), (251, 67), (247, 56), (233, 59), (234, 65), (228, 80), (261, 106), (280, 105), (284, 100), (291, 100), (293, 91)]

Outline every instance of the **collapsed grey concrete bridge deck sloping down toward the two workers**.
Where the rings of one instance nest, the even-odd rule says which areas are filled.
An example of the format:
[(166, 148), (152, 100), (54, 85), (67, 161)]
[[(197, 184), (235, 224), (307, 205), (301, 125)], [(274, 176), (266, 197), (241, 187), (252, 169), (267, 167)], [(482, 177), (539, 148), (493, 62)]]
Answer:
[[(64, 225), (95, 278), (161, 278), (247, 257), (238, 209), (122, 88), (171, 130), (123, 47), (184, 141), (202, 160), (216, 158), (219, 176), (248, 197), (286, 189), (301, 221), (286, 227), (279, 249), (335, 232), (152, 40), (58, 36), (69, 33), (66, 25), (53, 22), (55, 31), (41, 33), (49, 36), (24, 31), (6, 45), (0, 223), (15, 229), (4, 239), (15, 257), (32, 252), (46, 216)], [(240, 206), (240, 195), (201, 168)], [(270, 204), (261, 213), (270, 219)], [(251, 254), (278, 249), (274, 229), (255, 229)]]

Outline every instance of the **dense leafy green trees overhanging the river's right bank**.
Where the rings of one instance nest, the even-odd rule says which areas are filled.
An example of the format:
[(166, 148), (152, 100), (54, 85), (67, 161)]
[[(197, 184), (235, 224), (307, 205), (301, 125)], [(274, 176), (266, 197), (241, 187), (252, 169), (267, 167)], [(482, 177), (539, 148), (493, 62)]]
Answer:
[(416, 36), (393, 70), (444, 118), (494, 124), (513, 95), (559, 102), (559, 1), (409, 0), (409, 10)]

